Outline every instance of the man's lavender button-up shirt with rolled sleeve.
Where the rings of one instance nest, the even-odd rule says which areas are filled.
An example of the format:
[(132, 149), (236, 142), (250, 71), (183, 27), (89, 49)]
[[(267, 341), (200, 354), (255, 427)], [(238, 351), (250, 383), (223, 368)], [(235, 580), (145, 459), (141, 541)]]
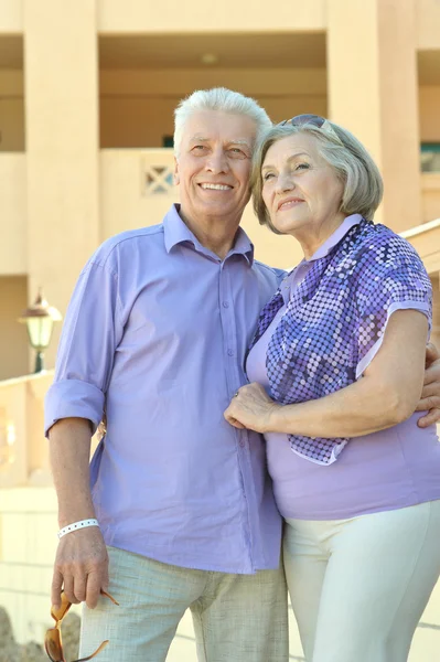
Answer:
[(160, 225), (105, 242), (64, 322), (46, 430), (81, 417), (107, 435), (92, 462), (108, 545), (182, 567), (276, 568), (281, 522), (261, 437), (223, 412), (281, 273), (243, 229), (225, 259), (172, 207)]

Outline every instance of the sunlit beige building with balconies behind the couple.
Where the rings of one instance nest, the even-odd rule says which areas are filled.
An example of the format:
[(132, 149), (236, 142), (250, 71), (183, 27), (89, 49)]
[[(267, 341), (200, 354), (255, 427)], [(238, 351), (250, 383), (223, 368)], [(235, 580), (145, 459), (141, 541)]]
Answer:
[[(440, 342), (439, 0), (1, 0), (0, 487), (50, 482), (39, 436), (50, 375), (20, 378), (32, 356), (18, 317), (39, 287), (64, 313), (104, 239), (161, 221), (178, 200), (173, 109), (219, 85), (275, 121), (324, 115), (364, 142), (385, 180), (377, 217), (432, 279)], [(300, 259), (250, 209), (244, 227), (259, 259)]]

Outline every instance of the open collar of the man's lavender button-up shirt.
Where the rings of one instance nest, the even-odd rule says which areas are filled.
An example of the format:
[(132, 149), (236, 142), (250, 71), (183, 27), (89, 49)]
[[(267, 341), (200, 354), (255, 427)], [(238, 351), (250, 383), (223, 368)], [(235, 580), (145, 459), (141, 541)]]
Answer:
[[(170, 253), (170, 250), (178, 244), (191, 242), (195, 250), (198, 253), (203, 253), (210, 257), (214, 256), (212, 250), (202, 246), (196, 236), (182, 221), (181, 216), (179, 215), (179, 210), (180, 204), (173, 204), (163, 220), (167, 253)], [(238, 228), (234, 247), (229, 250), (226, 257), (229, 257), (230, 255), (243, 255), (249, 263), (249, 266), (251, 266), (254, 263), (254, 244), (250, 242), (249, 237), (242, 227)]]

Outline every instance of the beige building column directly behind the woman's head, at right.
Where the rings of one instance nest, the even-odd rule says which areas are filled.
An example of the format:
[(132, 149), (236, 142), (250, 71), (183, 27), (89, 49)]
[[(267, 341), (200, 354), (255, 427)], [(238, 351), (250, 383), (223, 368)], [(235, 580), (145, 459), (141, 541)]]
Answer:
[(415, 0), (328, 0), (329, 116), (380, 168), (377, 220), (421, 223)]

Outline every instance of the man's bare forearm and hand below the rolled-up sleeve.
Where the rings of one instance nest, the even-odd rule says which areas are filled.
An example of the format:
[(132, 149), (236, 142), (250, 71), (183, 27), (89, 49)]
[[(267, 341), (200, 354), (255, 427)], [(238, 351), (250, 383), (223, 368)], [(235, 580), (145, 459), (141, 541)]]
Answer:
[[(89, 488), (90, 423), (63, 418), (49, 433), (53, 478), (62, 528), (95, 517)], [(52, 604), (61, 605), (61, 591), (71, 602), (96, 607), (100, 589), (108, 586), (108, 555), (103, 534), (88, 526), (64, 535), (58, 543), (52, 580)]]

